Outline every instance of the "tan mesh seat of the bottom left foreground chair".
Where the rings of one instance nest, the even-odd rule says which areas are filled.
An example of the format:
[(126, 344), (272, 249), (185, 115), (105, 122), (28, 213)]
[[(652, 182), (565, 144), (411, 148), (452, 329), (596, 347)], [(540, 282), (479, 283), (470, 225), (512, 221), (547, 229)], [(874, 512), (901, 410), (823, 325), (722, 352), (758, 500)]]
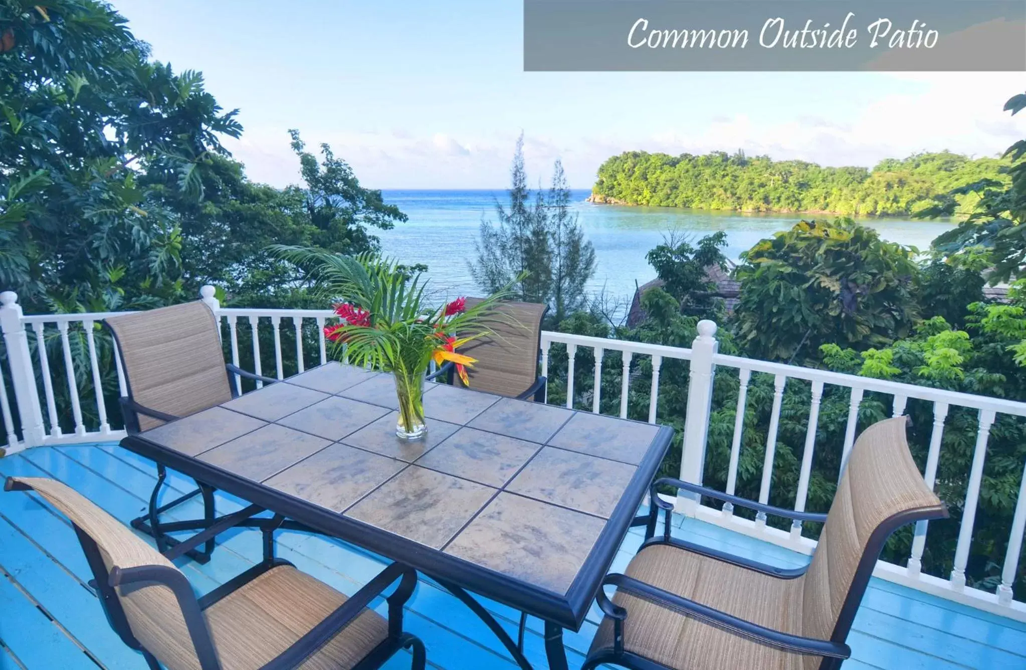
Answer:
[[(224, 670), (256, 670), (347, 600), (290, 565), (264, 573), (204, 610)], [(388, 623), (364, 609), (302, 670), (349, 670), (388, 635)]]

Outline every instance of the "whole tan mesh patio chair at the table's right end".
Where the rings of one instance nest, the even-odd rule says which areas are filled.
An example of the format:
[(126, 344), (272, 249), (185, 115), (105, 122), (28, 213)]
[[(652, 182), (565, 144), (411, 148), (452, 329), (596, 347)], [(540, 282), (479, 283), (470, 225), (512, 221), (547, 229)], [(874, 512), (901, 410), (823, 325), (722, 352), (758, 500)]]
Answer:
[[(923, 482), (905, 441), (906, 418), (867, 428), (850, 455), (829, 514), (752, 503), (675, 479), (653, 484), (647, 540), (624, 575), (603, 585), (605, 614), (583, 668), (828, 670), (851, 656), (845, 640), (891, 534), (947, 508)], [(669, 484), (762, 514), (824, 522), (812, 562), (787, 569), (670, 537)], [(662, 537), (653, 537), (658, 509)]]

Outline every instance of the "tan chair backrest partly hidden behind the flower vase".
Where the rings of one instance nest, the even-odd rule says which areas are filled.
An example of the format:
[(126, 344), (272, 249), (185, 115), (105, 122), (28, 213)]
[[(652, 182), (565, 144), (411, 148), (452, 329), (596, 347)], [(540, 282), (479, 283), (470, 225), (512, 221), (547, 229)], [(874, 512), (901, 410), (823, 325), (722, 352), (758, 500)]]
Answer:
[[(468, 298), (467, 307), (481, 302)], [(460, 353), (477, 359), (467, 369), (470, 388), (505, 396), (517, 396), (538, 379), (538, 352), (542, 339), (542, 318), (547, 305), (503, 302), (496, 306), (501, 316), (485, 319), (495, 336), (468, 342)]]

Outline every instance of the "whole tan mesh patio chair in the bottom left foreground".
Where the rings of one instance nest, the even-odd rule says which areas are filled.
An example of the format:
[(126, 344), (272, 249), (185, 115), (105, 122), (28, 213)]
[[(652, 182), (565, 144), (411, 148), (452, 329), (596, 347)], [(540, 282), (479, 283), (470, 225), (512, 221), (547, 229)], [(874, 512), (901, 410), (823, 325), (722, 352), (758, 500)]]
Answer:
[[(347, 598), (274, 558), (272, 549), (262, 562), (197, 598), (169, 559), (181, 549), (157, 553), (64, 483), (10, 477), (4, 490), (34, 490), (71, 520), (108, 622), (152, 670), (369, 669), (400, 648), (411, 651), (415, 670), (425, 667), (424, 644), (402, 631), (403, 604), (417, 586), (417, 573), (408, 567), (392, 563)], [(273, 527), (264, 533), (273, 547)], [(386, 621), (367, 606), (396, 581), (386, 598)]]

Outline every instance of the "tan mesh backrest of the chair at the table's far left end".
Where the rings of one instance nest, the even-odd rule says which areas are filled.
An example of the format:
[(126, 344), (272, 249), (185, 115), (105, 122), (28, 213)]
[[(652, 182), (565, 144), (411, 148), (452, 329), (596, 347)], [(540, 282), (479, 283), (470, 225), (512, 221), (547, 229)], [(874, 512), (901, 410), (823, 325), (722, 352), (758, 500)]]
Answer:
[[(106, 322), (114, 332), (128, 397), (134, 402), (186, 417), (232, 398), (218, 320), (201, 301), (114, 316)], [(140, 430), (163, 423), (139, 415)]]

